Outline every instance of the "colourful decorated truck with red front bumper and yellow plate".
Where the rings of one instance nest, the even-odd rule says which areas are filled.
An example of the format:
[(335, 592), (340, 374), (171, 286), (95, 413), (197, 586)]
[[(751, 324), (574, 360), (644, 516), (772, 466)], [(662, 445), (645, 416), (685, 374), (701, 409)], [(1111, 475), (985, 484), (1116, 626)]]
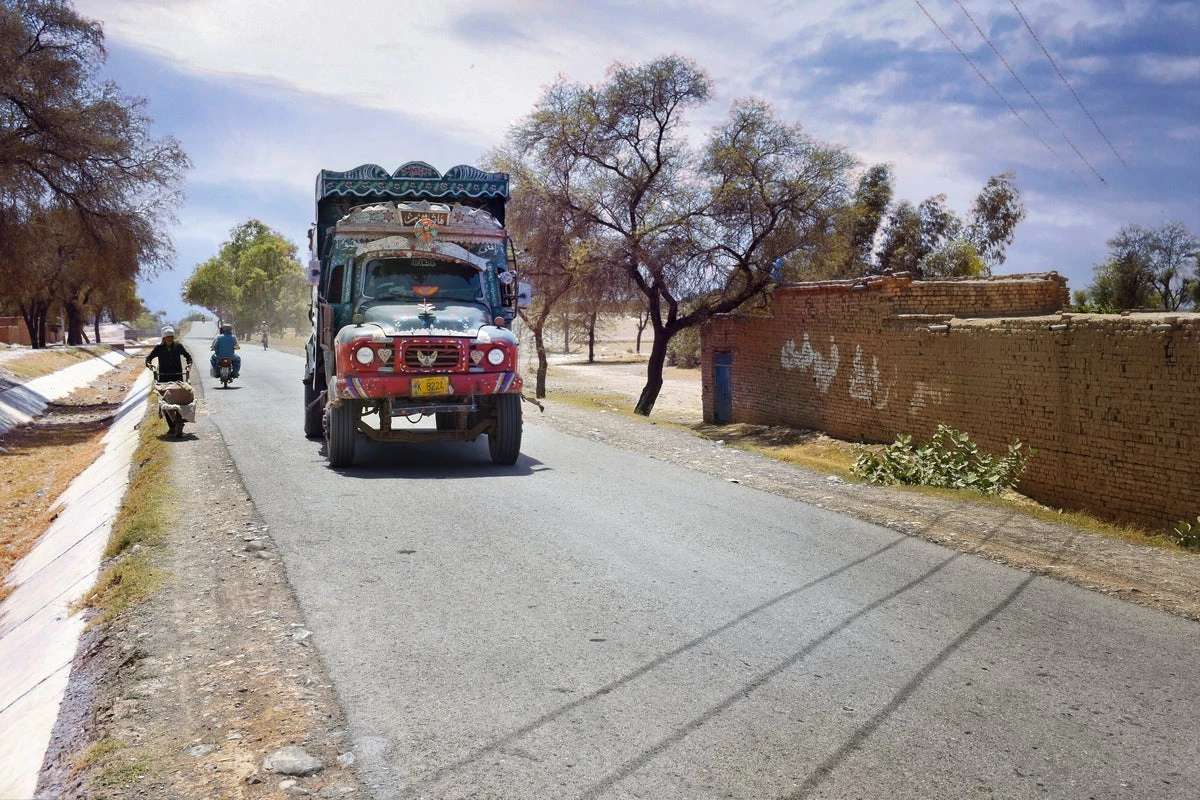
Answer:
[(374, 441), (473, 441), (521, 453), (512, 331), (528, 287), (504, 231), (504, 173), (424, 162), (317, 175), (305, 434), (331, 467)]

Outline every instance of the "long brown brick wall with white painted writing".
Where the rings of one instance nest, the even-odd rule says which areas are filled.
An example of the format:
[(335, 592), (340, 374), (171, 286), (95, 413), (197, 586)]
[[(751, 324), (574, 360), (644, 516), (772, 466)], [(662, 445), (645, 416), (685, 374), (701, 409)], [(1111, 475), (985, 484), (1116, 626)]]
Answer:
[(1020, 489), (1040, 503), (1156, 530), (1194, 521), (1200, 314), (1058, 313), (1068, 296), (1055, 273), (781, 287), (772, 315), (703, 327), (704, 419), (728, 354), (734, 422), (869, 443), (942, 422), (997, 455), (1034, 447)]

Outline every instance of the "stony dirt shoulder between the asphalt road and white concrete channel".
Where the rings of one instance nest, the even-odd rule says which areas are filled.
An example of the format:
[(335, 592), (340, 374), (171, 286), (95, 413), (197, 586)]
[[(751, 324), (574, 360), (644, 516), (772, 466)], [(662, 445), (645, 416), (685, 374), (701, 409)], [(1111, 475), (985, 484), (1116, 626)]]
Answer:
[[(166, 435), (152, 414), (143, 425)], [(38, 796), (365, 798), (270, 531), (218, 431), (202, 414), (170, 446), (167, 584), (80, 644)], [(77, 770), (73, 759), (96, 742), (118, 769)], [(289, 745), (320, 769), (264, 765)]]

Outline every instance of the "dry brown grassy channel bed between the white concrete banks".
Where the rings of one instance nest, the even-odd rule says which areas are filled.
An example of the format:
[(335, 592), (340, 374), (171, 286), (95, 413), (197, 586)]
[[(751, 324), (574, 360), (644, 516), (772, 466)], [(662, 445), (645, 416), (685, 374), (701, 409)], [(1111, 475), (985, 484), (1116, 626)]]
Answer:
[[(137, 379), (128, 360), (103, 385), (84, 386), (52, 403), (34, 422), (0, 439), (0, 581), (58, 516), (58, 499), (100, 456), (101, 439)], [(0, 585), (0, 600), (12, 593)]]

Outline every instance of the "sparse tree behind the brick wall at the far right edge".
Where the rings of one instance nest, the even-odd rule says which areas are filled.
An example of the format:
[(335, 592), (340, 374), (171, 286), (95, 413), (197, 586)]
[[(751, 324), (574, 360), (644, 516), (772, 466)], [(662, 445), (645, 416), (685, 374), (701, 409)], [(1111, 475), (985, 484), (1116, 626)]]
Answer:
[(1087, 302), (1112, 311), (1195, 303), (1200, 240), (1182, 222), (1158, 228), (1129, 224), (1105, 242), (1109, 258), (1092, 267)]

